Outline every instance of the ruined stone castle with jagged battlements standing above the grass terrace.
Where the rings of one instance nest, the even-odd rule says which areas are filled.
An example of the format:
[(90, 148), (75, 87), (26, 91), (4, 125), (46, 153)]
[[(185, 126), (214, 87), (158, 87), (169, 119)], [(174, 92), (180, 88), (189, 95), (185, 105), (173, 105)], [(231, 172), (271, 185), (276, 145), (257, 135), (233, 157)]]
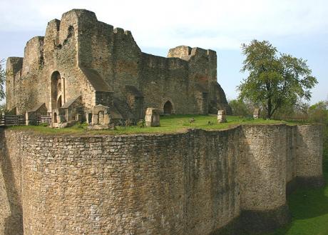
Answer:
[(24, 58), (9, 57), (6, 70), (6, 108), (51, 115), (53, 124), (91, 123), (97, 105), (113, 120), (143, 119), (148, 107), (161, 114), (230, 112), (215, 51), (178, 46), (167, 58), (145, 54), (130, 31), (81, 9), (48, 22), (46, 35), (27, 42)]

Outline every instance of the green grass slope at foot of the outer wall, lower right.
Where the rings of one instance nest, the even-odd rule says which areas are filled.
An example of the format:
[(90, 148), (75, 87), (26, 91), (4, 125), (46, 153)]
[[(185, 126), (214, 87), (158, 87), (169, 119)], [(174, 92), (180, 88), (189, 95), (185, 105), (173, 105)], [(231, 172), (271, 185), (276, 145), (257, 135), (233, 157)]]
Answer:
[[(328, 182), (328, 127), (324, 142), (324, 179)], [(265, 235), (327, 235), (328, 185), (322, 189), (299, 189), (288, 197), (292, 223)]]

